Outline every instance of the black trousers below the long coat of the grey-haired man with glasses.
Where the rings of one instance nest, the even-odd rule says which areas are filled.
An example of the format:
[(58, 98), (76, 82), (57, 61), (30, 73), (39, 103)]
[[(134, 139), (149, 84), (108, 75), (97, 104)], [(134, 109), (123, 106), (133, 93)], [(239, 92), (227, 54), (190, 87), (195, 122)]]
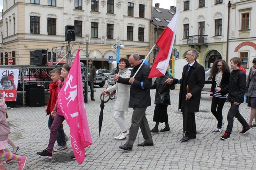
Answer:
[(196, 138), (196, 119), (194, 112), (188, 112), (185, 136), (189, 138)]

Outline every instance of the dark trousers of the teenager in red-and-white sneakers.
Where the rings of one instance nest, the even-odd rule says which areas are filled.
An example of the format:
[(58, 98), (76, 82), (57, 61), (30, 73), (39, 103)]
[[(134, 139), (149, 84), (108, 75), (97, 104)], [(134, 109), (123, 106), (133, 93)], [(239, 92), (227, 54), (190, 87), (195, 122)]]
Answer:
[(228, 135), (232, 133), (234, 117), (237, 118), (237, 120), (243, 125), (243, 128), (249, 127), (248, 123), (239, 112), (239, 106), (240, 104), (235, 105), (234, 103), (231, 103), (231, 107), (228, 111), (228, 116), (227, 116), (227, 120), (228, 120), (227, 130), (225, 131)]

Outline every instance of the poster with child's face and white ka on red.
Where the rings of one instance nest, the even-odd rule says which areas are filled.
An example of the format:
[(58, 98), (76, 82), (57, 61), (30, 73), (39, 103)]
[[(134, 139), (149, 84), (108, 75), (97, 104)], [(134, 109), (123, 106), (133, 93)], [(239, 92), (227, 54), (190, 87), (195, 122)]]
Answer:
[(19, 69), (0, 69), (0, 92), (5, 101), (16, 101)]

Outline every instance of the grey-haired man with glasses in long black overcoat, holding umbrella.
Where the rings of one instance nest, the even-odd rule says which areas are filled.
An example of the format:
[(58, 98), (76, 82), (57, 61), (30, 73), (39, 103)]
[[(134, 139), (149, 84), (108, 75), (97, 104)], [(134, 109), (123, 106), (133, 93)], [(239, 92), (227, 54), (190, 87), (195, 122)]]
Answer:
[[(188, 102), (188, 114), (186, 121), (186, 133), (185, 136), (180, 140), (181, 142), (186, 142), (190, 139), (196, 138), (196, 119), (195, 112), (199, 112), (201, 91), (204, 87), (204, 67), (201, 66), (196, 59), (198, 58), (198, 53), (196, 50), (188, 50), (186, 54), (186, 64), (183, 68), (181, 79), (167, 79), (166, 82), (171, 84), (180, 83), (180, 95), (179, 95), (179, 108), (181, 112), (184, 111), (186, 106), (186, 100)], [(186, 87), (189, 87), (187, 93)], [(183, 119), (184, 121), (184, 119)]]

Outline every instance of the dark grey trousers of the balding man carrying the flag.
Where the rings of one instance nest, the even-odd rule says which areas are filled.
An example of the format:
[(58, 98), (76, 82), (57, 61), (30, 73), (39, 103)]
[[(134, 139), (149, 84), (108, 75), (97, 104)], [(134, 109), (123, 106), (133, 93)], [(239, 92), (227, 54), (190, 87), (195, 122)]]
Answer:
[(141, 128), (141, 133), (146, 143), (153, 143), (149, 123), (146, 118), (146, 109), (143, 108), (133, 108), (133, 115), (131, 117), (131, 127), (129, 132), (129, 138), (125, 143), (128, 147), (133, 147), (133, 143), (136, 140), (139, 128)]

